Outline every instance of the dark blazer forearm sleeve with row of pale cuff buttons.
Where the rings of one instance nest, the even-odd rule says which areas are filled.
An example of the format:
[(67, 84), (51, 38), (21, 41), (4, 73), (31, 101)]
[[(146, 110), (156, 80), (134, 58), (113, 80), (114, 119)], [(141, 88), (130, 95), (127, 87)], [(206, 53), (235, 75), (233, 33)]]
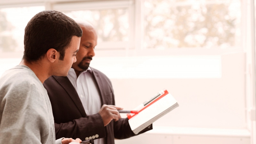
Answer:
[(54, 123), (54, 126), (56, 139), (66, 137), (84, 140), (86, 137), (96, 134), (99, 135), (96, 139), (106, 137), (103, 120), (99, 113), (81, 117), (67, 123)]

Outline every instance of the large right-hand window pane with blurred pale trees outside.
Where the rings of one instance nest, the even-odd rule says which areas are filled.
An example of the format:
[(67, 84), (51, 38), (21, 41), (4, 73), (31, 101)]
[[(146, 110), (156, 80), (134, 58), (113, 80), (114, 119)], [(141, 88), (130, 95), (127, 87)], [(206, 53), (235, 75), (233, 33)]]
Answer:
[(240, 0), (145, 0), (144, 47), (240, 46)]

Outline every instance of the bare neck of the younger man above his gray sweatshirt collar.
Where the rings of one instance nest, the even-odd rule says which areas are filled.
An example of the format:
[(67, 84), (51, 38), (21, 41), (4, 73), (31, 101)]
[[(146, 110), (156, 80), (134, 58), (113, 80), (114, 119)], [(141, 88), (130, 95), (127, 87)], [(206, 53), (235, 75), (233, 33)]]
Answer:
[(26, 60), (21, 60), (19, 65), (25, 65), (28, 68), (30, 68), (37, 76), (37, 78), (41, 81), (43, 84), (44, 81), (50, 77), (49, 70), (47, 67), (43, 65), (43, 62), (37, 62), (37, 63), (29, 63)]

